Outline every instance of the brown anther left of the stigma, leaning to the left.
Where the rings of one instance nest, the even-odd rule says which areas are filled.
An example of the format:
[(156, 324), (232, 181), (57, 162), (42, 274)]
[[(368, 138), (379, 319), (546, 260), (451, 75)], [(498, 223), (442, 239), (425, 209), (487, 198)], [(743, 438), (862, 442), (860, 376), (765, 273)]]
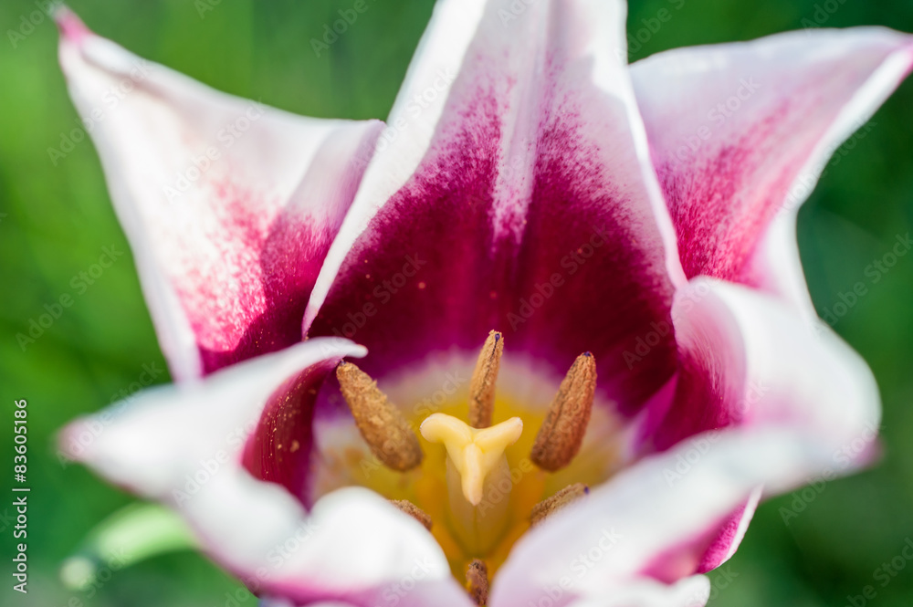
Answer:
[(405, 472), (422, 463), (422, 447), (403, 413), (394, 407), (371, 377), (351, 362), (336, 367), (342, 396), (371, 452), (385, 466)]

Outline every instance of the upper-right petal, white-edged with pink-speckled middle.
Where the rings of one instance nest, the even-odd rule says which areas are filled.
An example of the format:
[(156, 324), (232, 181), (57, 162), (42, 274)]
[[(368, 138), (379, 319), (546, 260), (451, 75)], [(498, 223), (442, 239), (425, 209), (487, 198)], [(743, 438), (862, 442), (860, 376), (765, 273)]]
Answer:
[(881, 27), (789, 32), (636, 62), (635, 94), (688, 276), (756, 284), (813, 316), (796, 214), (911, 65), (913, 37)]

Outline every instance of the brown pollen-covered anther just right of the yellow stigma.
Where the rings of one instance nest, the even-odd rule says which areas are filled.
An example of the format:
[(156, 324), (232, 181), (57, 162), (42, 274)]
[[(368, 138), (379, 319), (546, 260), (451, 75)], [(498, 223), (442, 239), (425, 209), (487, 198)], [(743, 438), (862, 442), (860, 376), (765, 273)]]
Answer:
[(596, 361), (593, 354), (584, 352), (561, 380), (549, 414), (536, 434), (530, 454), (536, 466), (555, 472), (571, 463), (580, 451), (586, 425), (590, 423), (595, 393)]

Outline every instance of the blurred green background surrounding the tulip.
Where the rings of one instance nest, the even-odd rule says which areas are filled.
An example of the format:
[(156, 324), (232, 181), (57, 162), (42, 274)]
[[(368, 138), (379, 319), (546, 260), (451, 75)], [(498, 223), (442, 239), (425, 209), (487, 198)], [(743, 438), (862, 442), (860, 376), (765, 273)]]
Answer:
[[(44, 4), (44, 3), (39, 3)], [(370, 4), (341, 39), (318, 57), (310, 46), (322, 26), (351, 0), (74, 0), (80, 16), (105, 37), (154, 61), (236, 95), (319, 117), (383, 118), (393, 103), (431, 0)], [(671, 47), (761, 37), (803, 26), (885, 25), (913, 32), (909, 0), (632, 0), (629, 31), (660, 9), (672, 18), (631, 49), (632, 60)], [(211, 9), (211, 10), (210, 10)], [(224, 605), (236, 582), (204, 558), (183, 552), (116, 572), (89, 591), (65, 589), (60, 562), (88, 529), (131, 498), (55, 455), (54, 434), (79, 413), (135, 387), (143, 365), (164, 369), (129, 256), (85, 292), (71, 282), (95, 263), (103, 246), (128, 250), (110, 206), (96, 152), (76, 143), (52, 159), (63, 133), (78, 126), (57, 64), (57, 31), (45, 18), (29, 29), (28, 0), (0, 4), (0, 424), (11, 424), (14, 399), (29, 412), (30, 592), (11, 591), (14, 541), (9, 501), (0, 503), (3, 604)], [(9, 31), (24, 37), (10, 37)], [(25, 34), (25, 32), (28, 32)], [(642, 38), (647, 38), (643, 36)], [(803, 208), (800, 244), (815, 305), (824, 314), (888, 252), (913, 232), (913, 81), (867, 125), (865, 138), (838, 151)], [(56, 163), (55, 163), (56, 161)], [(714, 573), (711, 605), (855, 607), (913, 605), (913, 564), (901, 551), (913, 538), (913, 256), (859, 298), (836, 330), (860, 351), (880, 384), (885, 456), (864, 474), (806, 493), (805, 508), (786, 525), (781, 508), (762, 506), (738, 555)], [(74, 303), (26, 351), (27, 331), (61, 294)], [(157, 382), (167, 382), (167, 373)], [(11, 436), (0, 452), (11, 454)], [(8, 461), (8, 460), (5, 460)], [(4, 473), (6, 496), (12, 482)], [(811, 499), (809, 497), (812, 497)], [(11, 500), (10, 500), (11, 501)], [(897, 558), (897, 559), (896, 559)], [(891, 565), (891, 560), (895, 560)], [(900, 570), (898, 564), (905, 566)], [(897, 567), (884, 576), (883, 564)], [(882, 584), (887, 579), (887, 585)], [(871, 585), (873, 599), (862, 597)]]

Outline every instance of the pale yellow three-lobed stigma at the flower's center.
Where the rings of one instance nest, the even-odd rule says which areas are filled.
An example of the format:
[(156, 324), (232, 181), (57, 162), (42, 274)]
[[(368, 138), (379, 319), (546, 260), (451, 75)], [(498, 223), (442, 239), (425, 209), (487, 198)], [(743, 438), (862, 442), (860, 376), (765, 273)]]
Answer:
[(446, 447), (447, 456), (459, 472), (463, 497), (473, 506), (482, 501), (485, 478), (501, 462), (504, 450), (523, 433), (519, 417), (488, 428), (473, 428), (446, 413), (432, 413), (422, 422), (422, 435)]

